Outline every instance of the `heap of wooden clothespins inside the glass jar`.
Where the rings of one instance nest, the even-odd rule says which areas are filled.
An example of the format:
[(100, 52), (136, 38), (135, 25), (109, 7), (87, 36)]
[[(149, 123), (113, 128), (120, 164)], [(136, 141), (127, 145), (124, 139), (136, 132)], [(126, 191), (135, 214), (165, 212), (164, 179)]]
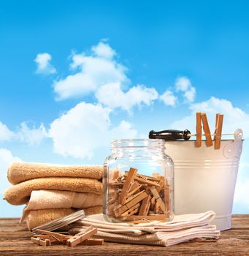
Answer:
[(158, 173), (145, 176), (137, 173), (134, 167), (123, 176), (118, 170), (112, 176), (108, 183), (109, 217), (136, 223), (144, 222), (141, 219), (169, 219), (169, 184), (164, 176), (159, 176)]

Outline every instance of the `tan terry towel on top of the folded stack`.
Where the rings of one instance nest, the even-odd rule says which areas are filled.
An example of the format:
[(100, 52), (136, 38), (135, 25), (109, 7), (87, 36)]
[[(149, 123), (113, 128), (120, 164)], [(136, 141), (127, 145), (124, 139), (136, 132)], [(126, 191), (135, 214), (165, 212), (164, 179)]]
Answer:
[(14, 162), (9, 166), (8, 179), (13, 185), (33, 178), (74, 177), (101, 179), (101, 165), (53, 165), (34, 162)]

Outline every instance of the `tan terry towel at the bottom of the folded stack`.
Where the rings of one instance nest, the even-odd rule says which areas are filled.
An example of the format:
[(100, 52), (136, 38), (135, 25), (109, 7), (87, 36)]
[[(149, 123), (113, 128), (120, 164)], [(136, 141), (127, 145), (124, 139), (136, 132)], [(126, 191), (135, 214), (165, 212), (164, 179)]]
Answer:
[[(74, 208), (61, 208), (61, 209), (42, 209), (28, 211), (26, 222), (28, 230), (34, 227), (51, 222), (54, 219), (64, 217), (77, 211)], [(85, 215), (99, 214), (102, 211), (102, 206), (93, 206), (84, 209)]]

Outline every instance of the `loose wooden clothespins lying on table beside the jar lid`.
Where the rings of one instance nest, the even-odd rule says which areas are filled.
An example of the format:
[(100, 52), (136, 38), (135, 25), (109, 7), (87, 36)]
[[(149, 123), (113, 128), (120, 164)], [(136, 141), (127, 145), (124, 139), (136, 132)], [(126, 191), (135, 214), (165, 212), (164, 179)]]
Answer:
[(74, 236), (39, 229), (36, 230), (36, 233), (38, 234), (31, 237), (31, 241), (40, 246), (51, 246), (53, 244), (64, 244), (67, 246), (104, 244), (104, 239), (91, 238), (91, 236), (97, 233), (97, 228), (93, 226), (87, 227)]

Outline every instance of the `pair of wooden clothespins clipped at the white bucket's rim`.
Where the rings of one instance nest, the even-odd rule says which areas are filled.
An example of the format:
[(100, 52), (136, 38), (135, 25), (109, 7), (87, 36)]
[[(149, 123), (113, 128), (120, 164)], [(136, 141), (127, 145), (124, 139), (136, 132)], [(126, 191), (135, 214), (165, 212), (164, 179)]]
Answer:
[[(202, 146), (202, 124), (204, 129), (204, 135), (206, 137), (206, 145), (212, 146), (212, 135), (210, 127), (208, 125), (206, 113), (196, 112), (196, 147)], [(223, 114), (217, 113), (215, 119), (215, 149), (221, 148), (221, 135), (223, 126)]]

